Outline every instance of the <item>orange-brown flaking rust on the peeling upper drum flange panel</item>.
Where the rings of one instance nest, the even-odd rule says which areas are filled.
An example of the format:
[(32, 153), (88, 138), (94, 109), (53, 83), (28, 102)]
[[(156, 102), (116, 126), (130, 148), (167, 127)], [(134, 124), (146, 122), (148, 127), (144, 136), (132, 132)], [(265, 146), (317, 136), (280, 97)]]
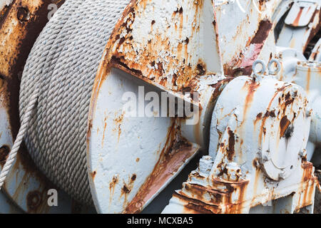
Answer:
[[(106, 57), (103, 58), (106, 60), (105, 66), (101, 66), (120, 68), (148, 83), (153, 81), (158, 85), (169, 86), (173, 90), (179, 91), (193, 78), (203, 74), (205, 71), (205, 65), (192, 65), (189, 63), (188, 44), (192, 36), (184, 38), (182, 35), (183, 21), (185, 18), (187, 19), (187, 14), (183, 6), (178, 6), (178, 9), (172, 15), (173, 25), (177, 26), (178, 36), (183, 40), (177, 47), (171, 44), (174, 41), (171, 41), (170, 37), (162, 38), (163, 32), (154, 28), (157, 22), (152, 21), (153, 36), (159, 38), (152, 38), (147, 43), (142, 43), (141, 45), (144, 48), (139, 48), (138, 51), (133, 47), (132, 26), (136, 18), (141, 16), (137, 14), (139, 9), (143, 7), (142, 4), (143, 1), (131, 1), (131, 4), (124, 11), (121, 21), (118, 21), (106, 46)], [(203, 1), (194, 2), (193, 5), (195, 5), (195, 27), (198, 28)], [(170, 53), (164, 57), (163, 61), (159, 58), (161, 50), (167, 50)], [(139, 57), (139, 61), (137, 61), (137, 57)], [(172, 69), (178, 69), (178, 72), (170, 73), (173, 76), (173, 81), (168, 81), (168, 72), (172, 71)], [(98, 71), (98, 74), (101, 75), (101, 71)]]

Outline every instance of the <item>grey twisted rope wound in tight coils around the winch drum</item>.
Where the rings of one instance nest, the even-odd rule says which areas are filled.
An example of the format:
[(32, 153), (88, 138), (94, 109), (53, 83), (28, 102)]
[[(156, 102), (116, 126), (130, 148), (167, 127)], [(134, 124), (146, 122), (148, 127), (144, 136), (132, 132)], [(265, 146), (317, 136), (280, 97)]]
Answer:
[(26, 62), (20, 117), (39, 88), (26, 134), (36, 165), (55, 185), (93, 204), (86, 166), (88, 109), (98, 64), (129, 0), (66, 1), (46, 25)]

